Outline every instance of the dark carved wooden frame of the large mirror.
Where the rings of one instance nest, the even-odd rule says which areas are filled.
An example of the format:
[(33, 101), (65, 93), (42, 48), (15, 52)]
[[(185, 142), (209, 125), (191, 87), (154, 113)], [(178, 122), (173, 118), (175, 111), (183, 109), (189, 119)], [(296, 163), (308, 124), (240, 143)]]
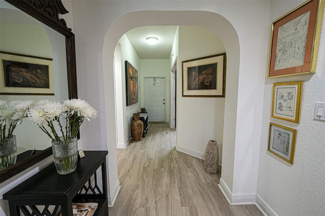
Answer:
[[(67, 73), (69, 98), (77, 98), (77, 74), (76, 74), (76, 51), (75, 34), (67, 27), (66, 21), (59, 18), (59, 14), (69, 13), (61, 0), (5, 0), (26, 14), (43, 22), (59, 33), (66, 36)], [(18, 174), (26, 168), (40, 162), (52, 154), (52, 148), (35, 154), (21, 162), (18, 162), (0, 172), (0, 183)]]

